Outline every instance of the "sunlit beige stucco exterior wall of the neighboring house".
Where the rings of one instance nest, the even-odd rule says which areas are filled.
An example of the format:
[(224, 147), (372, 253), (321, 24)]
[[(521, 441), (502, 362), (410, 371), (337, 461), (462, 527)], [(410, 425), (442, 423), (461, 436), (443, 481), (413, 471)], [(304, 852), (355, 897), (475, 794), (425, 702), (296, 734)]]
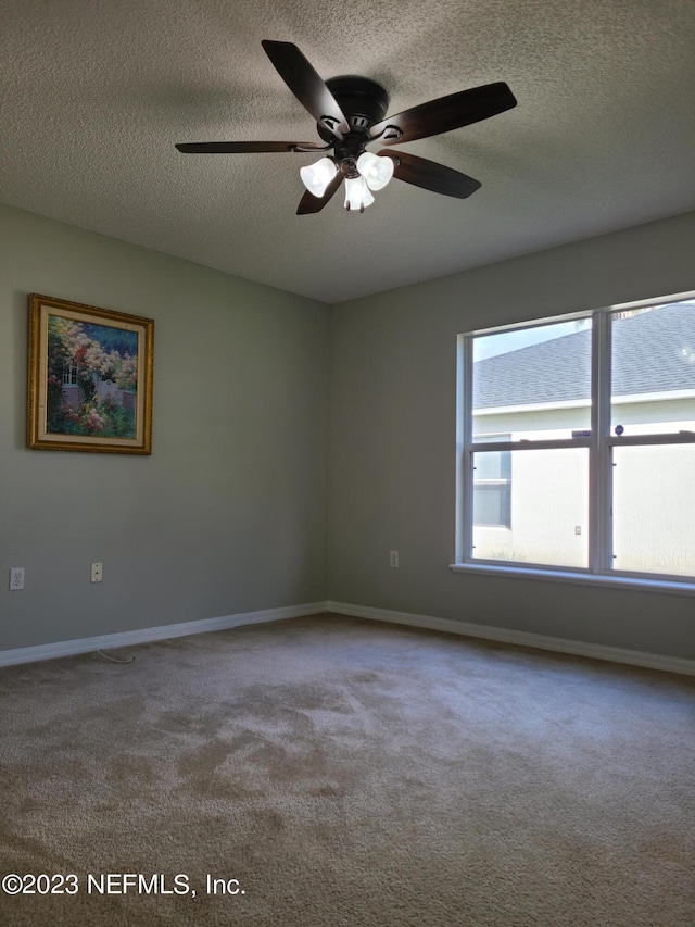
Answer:
[[(586, 427), (589, 409), (483, 414), (477, 434), (568, 438)], [(614, 422), (626, 435), (695, 431), (695, 396), (621, 402)], [(614, 455), (614, 566), (620, 571), (695, 574), (695, 501), (673, 487), (690, 485), (695, 444), (619, 448)], [(510, 528), (476, 527), (473, 555), (559, 566), (587, 566), (589, 451), (511, 452)], [(661, 491), (666, 490), (666, 491)]]

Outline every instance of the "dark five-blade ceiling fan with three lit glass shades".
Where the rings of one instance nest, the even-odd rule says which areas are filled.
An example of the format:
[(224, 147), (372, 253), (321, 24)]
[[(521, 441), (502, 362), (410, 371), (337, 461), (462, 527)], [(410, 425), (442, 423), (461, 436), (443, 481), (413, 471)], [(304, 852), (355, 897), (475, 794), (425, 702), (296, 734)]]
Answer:
[(263, 48), (292, 93), (316, 120), (326, 142), (313, 141), (203, 141), (176, 148), (185, 153), (238, 154), (247, 152), (332, 152), (300, 170), (306, 192), (298, 214), (317, 213), (345, 181), (345, 209), (364, 212), (374, 202), (371, 191), (396, 177), (406, 184), (465, 199), (480, 183), (459, 171), (404, 151), (388, 149), (374, 154), (370, 142), (391, 146), (429, 138), (486, 120), (516, 107), (504, 82), (460, 90), (386, 117), (387, 91), (367, 77), (331, 77), (324, 82), (299, 48), (291, 42), (264, 40)]

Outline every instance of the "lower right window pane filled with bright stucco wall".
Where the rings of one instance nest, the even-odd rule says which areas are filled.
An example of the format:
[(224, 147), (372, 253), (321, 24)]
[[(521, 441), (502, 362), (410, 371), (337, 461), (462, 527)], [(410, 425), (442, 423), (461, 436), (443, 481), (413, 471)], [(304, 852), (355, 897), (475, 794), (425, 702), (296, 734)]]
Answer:
[(695, 576), (695, 444), (614, 448), (614, 568)]

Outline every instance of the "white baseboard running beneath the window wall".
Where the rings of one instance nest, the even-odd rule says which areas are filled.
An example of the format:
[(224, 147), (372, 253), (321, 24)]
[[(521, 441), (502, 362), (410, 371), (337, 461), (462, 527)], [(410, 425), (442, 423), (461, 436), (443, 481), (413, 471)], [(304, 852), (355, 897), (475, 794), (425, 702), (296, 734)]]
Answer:
[(535, 647), (558, 653), (571, 653), (576, 656), (592, 656), (595, 660), (608, 660), (611, 663), (626, 663), (630, 666), (645, 666), (667, 673), (681, 673), (695, 676), (695, 660), (679, 656), (665, 656), (659, 653), (646, 653), (641, 650), (623, 650), (619, 647), (604, 647), (599, 643), (586, 643), (580, 640), (566, 640), (560, 637), (546, 637), (529, 631), (515, 631), (491, 625), (471, 625), (467, 622), (454, 622), (450, 618), (433, 618), (428, 615), (415, 615), (408, 612), (392, 612), (389, 609), (372, 609), (368, 605), (351, 605), (345, 602), (328, 602), (327, 610), (338, 615), (354, 615), (356, 618), (372, 618), (378, 622), (392, 622), (430, 630), (495, 640), (502, 643), (516, 643), (521, 647)]

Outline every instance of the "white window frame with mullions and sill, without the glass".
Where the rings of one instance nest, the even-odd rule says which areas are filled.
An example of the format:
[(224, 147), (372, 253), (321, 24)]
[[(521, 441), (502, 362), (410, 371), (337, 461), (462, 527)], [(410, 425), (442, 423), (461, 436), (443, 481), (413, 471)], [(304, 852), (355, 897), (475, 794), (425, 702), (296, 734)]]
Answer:
[[(615, 448), (648, 444), (694, 444), (695, 433), (652, 435), (610, 434), (611, 346), (610, 315), (621, 310), (656, 308), (695, 298), (695, 292), (623, 303), (551, 318), (478, 329), (458, 336), (456, 416), (456, 551), (455, 573), (484, 573), (554, 581), (623, 586), (658, 592), (695, 594), (695, 576), (617, 571), (612, 562), (612, 454)], [(589, 436), (548, 440), (475, 440), (472, 430), (473, 338), (522, 328), (538, 328), (573, 320), (592, 320), (591, 431)], [(594, 399), (595, 398), (595, 399)], [(491, 561), (472, 556), (472, 454), (483, 451), (528, 451), (569, 448), (589, 449), (589, 566), (554, 567), (547, 564)]]

